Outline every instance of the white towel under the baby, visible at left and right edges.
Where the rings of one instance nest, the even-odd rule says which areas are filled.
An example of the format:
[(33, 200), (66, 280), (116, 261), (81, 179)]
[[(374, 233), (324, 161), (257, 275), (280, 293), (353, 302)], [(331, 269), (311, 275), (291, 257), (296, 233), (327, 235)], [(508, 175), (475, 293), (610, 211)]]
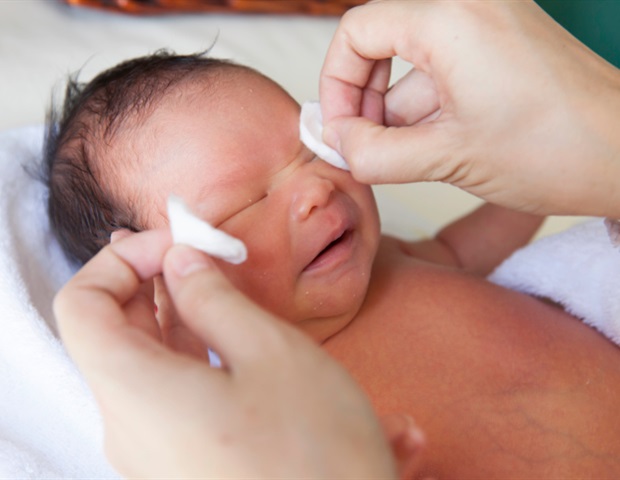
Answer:
[[(29, 173), (42, 136), (41, 127), (0, 133), (0, 479), (118, 478), (53, 322), (52, 298), (74, 268), (50, 234), (45, 187)], [(525, 248), (491, 278), (555, 299), (618, 340), (620, 251), (600, 223)]]

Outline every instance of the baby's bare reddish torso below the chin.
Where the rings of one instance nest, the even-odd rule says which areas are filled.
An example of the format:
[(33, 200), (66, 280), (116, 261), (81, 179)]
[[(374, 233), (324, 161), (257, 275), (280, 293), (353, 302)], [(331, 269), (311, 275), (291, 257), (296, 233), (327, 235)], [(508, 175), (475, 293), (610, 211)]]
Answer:
[(561, 309), (385, 238), (366, 301), (324, 347), (379, 414), (426, 433), (420, 475), (618, 478), (620, 349)]

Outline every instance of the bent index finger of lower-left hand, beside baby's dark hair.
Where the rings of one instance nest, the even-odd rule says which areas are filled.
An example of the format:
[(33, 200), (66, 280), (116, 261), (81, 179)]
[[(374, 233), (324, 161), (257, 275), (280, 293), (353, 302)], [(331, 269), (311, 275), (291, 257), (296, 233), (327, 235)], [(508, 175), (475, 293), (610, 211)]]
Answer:
[[(62, 288), (54, 300), (54, 313), (63, 341), (84, 367), (87, 377), (113, 358), (119, 332), (135, 330), (132, 339), (152, 338), (148, 321), (155, 322), (152, 301), (140, 294), (141, 284), (161, 272), (164, 254), (171, 244), (169, 232), (157, 230), (132, 235), (110, 244), (89, 261)], [(135, 315), (144, 315), (139, 321)], [(145, 332), (146, 329), (146, 332)]]

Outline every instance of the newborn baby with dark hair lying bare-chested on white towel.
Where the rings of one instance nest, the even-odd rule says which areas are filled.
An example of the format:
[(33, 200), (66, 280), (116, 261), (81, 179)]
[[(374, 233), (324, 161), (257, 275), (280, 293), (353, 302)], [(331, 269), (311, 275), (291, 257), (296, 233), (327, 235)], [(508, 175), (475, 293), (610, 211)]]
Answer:
[(46, 158), (70, 256), (167, 225), (179, 195), (246, 244), (246, 262), (220, 262), (240, 290), (319, 342), (379, 414), (416, 419), (420, 475), (620, 475), (620, 350), (485, 280), (540, 218), (487, 204), (433, 240), (382, 236), (370, 187), (300, 142), (298, 104), (230, 62), (160, 52), (67, 93)]

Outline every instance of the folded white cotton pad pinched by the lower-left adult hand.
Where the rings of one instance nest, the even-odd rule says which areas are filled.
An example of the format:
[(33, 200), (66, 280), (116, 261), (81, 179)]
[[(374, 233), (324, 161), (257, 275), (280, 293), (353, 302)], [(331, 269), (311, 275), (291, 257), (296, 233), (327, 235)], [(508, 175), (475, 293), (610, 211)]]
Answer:
[(168, 197), (168, 222), (172, 231), (172, 241), (194, 247), (229, 263), (245, 262), (248, 251), (245, 244), (204, 220), (195, 216), (181, 198)]

